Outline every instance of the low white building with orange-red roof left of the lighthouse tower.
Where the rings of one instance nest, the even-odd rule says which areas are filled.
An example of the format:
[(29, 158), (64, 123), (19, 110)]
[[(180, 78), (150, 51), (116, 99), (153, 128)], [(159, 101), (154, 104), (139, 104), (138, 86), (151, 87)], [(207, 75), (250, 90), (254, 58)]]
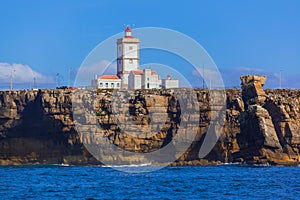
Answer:
[(92, 87), (97, 89), (121, 88), (121, 79), (117, 75), (103, 75), (92, 80)]

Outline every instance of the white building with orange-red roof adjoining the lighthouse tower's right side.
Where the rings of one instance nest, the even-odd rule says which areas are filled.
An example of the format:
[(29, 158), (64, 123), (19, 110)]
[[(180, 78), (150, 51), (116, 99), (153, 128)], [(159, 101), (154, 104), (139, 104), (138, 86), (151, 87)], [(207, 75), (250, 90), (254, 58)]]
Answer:
[(161, 84), (159, 75), (151, 69), (132, 70), (128, 76), (129, 89), (159, 89)]

